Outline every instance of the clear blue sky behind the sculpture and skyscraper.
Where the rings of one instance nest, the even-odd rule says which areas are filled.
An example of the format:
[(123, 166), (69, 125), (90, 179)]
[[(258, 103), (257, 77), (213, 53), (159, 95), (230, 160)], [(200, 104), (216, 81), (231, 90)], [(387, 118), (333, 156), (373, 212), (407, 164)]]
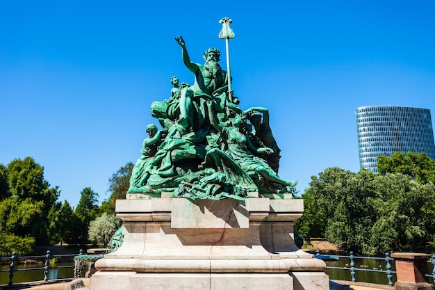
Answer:
[[(227, 3), (227, 4), (225, 4)], [(226, 7), (227, 6), (227, 7)], [(359, 170), (354, 110), (435, 114), (434, 1), (1, 1), (0, 163), (33, 156), (72, 206), (140, 156), (151, 102), (193, 82), (174, 36), (203, 63), (233, 19), (233, 90), (270, 109), (279, 175)]]

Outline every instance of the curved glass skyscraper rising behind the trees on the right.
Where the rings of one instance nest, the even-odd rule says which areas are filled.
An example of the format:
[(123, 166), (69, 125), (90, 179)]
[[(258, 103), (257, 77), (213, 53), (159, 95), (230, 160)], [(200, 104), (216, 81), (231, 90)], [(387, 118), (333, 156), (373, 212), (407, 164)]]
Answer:
[(359, 165), (377, 172), (377, 156), (425, 152), (435, 159), (434, 131), (427, 108), (363, 106), (356, 108)]

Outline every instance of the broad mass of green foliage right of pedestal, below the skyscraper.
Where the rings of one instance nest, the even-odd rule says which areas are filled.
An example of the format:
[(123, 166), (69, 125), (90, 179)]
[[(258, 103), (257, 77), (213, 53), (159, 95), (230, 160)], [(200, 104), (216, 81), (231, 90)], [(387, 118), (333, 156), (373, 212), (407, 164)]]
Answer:
[(410, 250), (433, 239), (432, 182), (341, 168), (327, 168), (311, 179), (302, 195), (304, 216), (296, 221), (304, 238), (323, 237), (343, 250), (365, 254)]

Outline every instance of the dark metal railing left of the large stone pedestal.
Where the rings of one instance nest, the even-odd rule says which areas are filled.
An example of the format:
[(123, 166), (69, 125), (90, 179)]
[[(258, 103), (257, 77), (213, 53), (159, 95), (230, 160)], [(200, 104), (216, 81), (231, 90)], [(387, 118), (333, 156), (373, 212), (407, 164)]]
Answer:
[[(10, 260), (10, 268), (6, 270), (0, 270), (0, 273), (9, 273), (9, 283), (8, 285), (13, 284), (13, 278), (14, 273), (18, 271), (38, 271), (41, 270), (41, 274), (44, 273), (44, 281), (49, 280), (49, 271), (50, 269), (58, 269), (58, 268), (74, 268), (74, 265), (68, 265), (68, 266), (54, 266), (51, 267), (51, 259), (56, 257), (72, 257), (74, 258), (77, 255), (83, 255), (83, 250), (80, 250), (79, 254), (63, 254), (63, 255), (51, 255), (51, 251), (47, 250), (47, 255), (41, 255), (41, 256), (23, 256), (19, 257), (17, 255), (17, 252), (13, 252), (11, 257), (1, 257), (1, 261), (4, 260)], [(36, 259), (36, 260), (42, 260), (44, 261), (44, 266), (41, 267), (35, 267), (35, 268), (16, 268), (16, 261), (19, 259)], [(2, 263), (3, 264), (3, 263)], [(74, 273), (75, 275), (76, 273)], [(42, 277), (42, 275), (41, 275)]]

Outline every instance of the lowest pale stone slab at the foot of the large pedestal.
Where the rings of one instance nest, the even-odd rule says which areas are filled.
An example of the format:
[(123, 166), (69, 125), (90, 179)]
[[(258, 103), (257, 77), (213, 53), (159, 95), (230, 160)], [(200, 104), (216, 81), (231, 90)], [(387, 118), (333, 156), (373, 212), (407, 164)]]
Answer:
[[(419, 283), (423, 284), (423, 283)], [(427, 283), (425, 283), (427, 284)], [(414, 284), (415, 285), (415, 284)], [(432, 285), (396, 290), (433, 290)], [(424, 286), (424, 287), (423, 287)], [(322, 272), (290, 273), (135, 273), (99, 271), (92, 275), (90, 290), (329, 290), (329, 277)]]

